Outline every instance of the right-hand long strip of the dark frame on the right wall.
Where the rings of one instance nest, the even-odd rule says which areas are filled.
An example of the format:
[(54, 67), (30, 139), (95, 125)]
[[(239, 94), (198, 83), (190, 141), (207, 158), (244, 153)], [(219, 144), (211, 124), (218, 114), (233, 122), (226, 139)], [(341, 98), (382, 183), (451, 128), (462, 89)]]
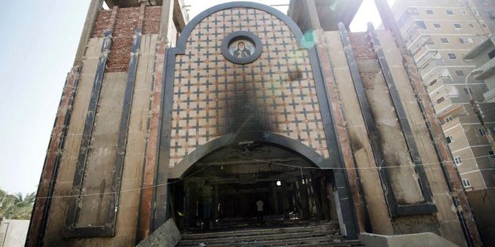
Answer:
[[(414, 136), (412, 134), (412, 130), (409, 125), (408, 116), (406, 115), (406, 110), (401, 102), (401, 97), (397, 88), (395, 87), (394, 78), (392, 77), (392, 72), (390, 71), (390, 67), (388, 66), (388, 62), (385, 57), (385, 53), (383, 49), (381, 49), (380, 42), (378, 40), (377, 34), (375, 32), (375, 27), (371, 23), (368, 23), (368, 33), (370, 34), (371, 43), (373, 45), (373, 49), (378, 57), (378, 62), (380, 64), (381, 73), (383, 74), (383, 78), (385, 78), (385, 82), (388, 87), (388, 91), (390, 93), (390, 99), (392, 99), (392, 103), (394, 104), (395, 113), (397, 113), (397, 118), (399, 119), (399, 124), (401, 125), (404, 139), (406, 140), (406, 144), (408, 145), (410, 156), (412, 161), (414, 162), (414, 170), (418, 174), (419, 177), (419, 185), (421, 186), (421, 193), (423, 194), (423, 198), (427, 204), (431, 204), (432, 207), (428, 207), (428, 209), (432, 209), (429, 213), (435, 213), (437, 211), (434, 206), (432, 200), (432, 192), (430, 189), (430, 184), (428, 183), (428, 177), (426, 176), (425, 169), (423, 168), (421, 162), (421, 156), (419, 156), (419, 151), (416, 145), (416, 141), (414, 141)], [(410, 205), (410, 207), (415, 207), (417, 204)], [(397, 213), (399, 215), (399, 208), (397, 208)], [(424, 211), (418, 210), (417, 214), (425, 213)]]

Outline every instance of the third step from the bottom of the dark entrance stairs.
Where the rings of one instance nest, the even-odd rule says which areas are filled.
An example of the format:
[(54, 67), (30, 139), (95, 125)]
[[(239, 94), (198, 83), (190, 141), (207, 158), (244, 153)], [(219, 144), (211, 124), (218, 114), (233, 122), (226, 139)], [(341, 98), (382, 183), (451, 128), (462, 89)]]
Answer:
[(205, 239), (211, 237), (225, 237), (226, 235), (253, 235), (255, 234), (277, 234), (277, 233), (292, 233), (292, 232), (300, 232), (300, 231), (339, 231), (338, 224), (320, 224), (315, 226), (293, 226), (293, 227), (282, 227), (282, 228), (250, 228), (244, 230), (235, 230), (235, 231), (219, 231), (219, 232), (210, 232), (210, 233), (183, 233), (183, 239)]

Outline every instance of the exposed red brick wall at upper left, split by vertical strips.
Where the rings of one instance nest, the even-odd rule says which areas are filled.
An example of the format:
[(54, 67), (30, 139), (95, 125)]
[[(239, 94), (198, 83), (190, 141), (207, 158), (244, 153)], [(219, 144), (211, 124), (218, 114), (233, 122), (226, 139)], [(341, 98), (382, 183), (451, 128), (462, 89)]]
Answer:
[[(129, 67), (134, 32), (138, 27), (140, 8), (120, 8), (117, 12), (113, 43), (107, 61), (107, 72), (123, 72)], [(143, 34), (158, 34), (161, 6), (145, 8)], [(112, 10), (102, 10), (94, 25), (92, 38), (103, 37), (112, 23)]]

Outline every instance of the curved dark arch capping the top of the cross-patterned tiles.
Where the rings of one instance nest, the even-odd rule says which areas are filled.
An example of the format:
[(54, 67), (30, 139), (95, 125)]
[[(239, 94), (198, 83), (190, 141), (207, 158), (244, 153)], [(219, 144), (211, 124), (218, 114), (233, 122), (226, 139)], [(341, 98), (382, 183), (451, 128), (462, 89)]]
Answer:
[(293, 21), (293, 19), (289, 18), (286, 14), (280, 12), (279, 10), (276, 10), (275, 8), (264, 5), (262, 3), (253, 3), (253, 2), (248, 2), (248, 1), (236, 1), (236, 2), (231, 2), (231, 3), (222, 3), (219, 5), (215, 5), (207, 10), (204, 10), (197, 16), (195, 16), (189, 23), (187, 23), (186, 27), (184, 27), (184, 30), (180, 33), (179, 40), (177, 41), (176, 49), (177, 53), (176, 54), (183, 54), (186, 49), (186, 43), (187, 43), (187, 38), (189, 38), (189, 35), (191, 32), (194, 30), (194, 27), (198, 25), (203, 19), (207, 18), (211, 14), (221, 11), (221, 10), (226, 10), (229, 8), (254, 8), (257, 10), (262, 10), (265, 12), (268, 12), (270, 14), (273, 14), (274, 16), (277, 16), (280, 21), (284, 22), (291, 32), (294, 34), (296, 40), (297, 40), (297, 45), (299, 47), (304, 48), (304, 35), (302, 34), (301, 29), (299, 29), (299, 26)]

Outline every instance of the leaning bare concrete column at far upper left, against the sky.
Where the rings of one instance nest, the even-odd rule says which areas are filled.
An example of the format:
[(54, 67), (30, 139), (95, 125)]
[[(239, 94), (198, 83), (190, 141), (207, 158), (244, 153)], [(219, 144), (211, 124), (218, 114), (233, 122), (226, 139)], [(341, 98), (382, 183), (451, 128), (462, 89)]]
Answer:
[(83, 32), (81, 34), (81, 39), (79, 40), (79, 46), (76, 51), (76, 58), (74, 59), (74, 66), (82, 62), (84, 53), (86, 51), (87, 40), (91, 37), (93, 33), (94, 23), (103, 5), (103, 0), (92, 0), (89, 3), (89, 9), (87, 10), (86, 20), (83, 26)]

